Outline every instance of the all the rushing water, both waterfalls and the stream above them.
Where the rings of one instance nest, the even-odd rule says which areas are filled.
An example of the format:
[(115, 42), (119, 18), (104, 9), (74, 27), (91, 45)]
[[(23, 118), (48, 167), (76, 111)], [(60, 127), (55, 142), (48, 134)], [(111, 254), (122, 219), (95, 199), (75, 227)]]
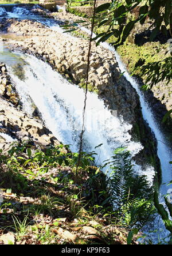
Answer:
[[(24, 8), (15, 8), (13, 12), (7, 13), (7, 16), (18, 18), (25, 18), (25, 16), (27, 16), (27, 18), (36, 18), (32, 12), (27, 12), (28, 10), (25, 11), (23, 9)], [(0, 7), (0, 16), (4, 15), (5, 10), (2, 10)], [(55, 31), (62, 32), (62, 29), (58, 26), (56, 21), (45, 18), (42, 19), (40, 17), (37, 17), (37, 20)], [(88, 29), (81, 29), (90, 33)], [(110, 47), (107, 43), (101, 45), (114, 51), (114, 48)], [(61, 140), (64, 144), (71, 144), (71, 149), (77, 151), (83, 121), (83, 90), (75, 85), (69, 84), (60, 74), (53, 71), (50, 66), (34, 57), (14, 53), (11, 57), (8, 50), (5, 50), (5, 52), (5, 54), (4, 52), (1, 54), (1, 61), (5, 62), (9, 67), (11, 77), (15, 85), (17, 85), (17, 91), (24, 104), (25, 111), (32, 114), (32, 104), (34, 103), (41, 112), (45, 125), (58, 140)], [(119, 55), (116, 52), (115, 57), (119, 63), (120, 70), (124, 72), (126, 79), (131, 82), (131, 85), (138, 92), (143, 118), (157, 138), (157, 153), (161, 161), (162, 169), (162, 185), (159, 190), (159, 198), (161, 199), (161, 195), (166, 194), (167, 190), (170, 188), (167, 187), (166, 183), (172, 179), (171, 166), (169, 164), (169, 161), (172, 159), (171, 150), (166, 145), (165, 137), (154, 120), (154, 116), (147, 106), (138, 84), (127, 73), (126, 68), (120, 61)], [(11, 58), (11, 62), (8, 61), (9, 58)], [(14, 63), (15, 65), (16, 63), (24, 63), (21, 71), (24, 73), (25, 79), (21, 80), (21, 77), (15, 73)], [(98, 164), (109, 159), (110, 156), (112, 156), (113, 150), (120, 146), (126, 146), (132, 156), (135, 156), (142, 149), (142, 145), (140, 145), (139, 142), (132, 141), (131, 135), (128, 133), (131, 126), (124, 123), (122, 119), (118, 119), (114, 114), (111, 114), (111, 112), (104, 107), (103, 101), (98, 99), (93, 93), (88, 93), (85, 116), (86, 130), (84, 133), (84, 149), (88, 151), (95, 150), (95, 146), (103, 144), (100, 149), (96, 149), (98, 154), (96, 161)], [(135, 172), (139, 174), (147, 174), (147, 179), (150, 183), (152, 182), (154, 177), (153, 167), (145, 167), (143, 170), (142, 167), (135, 164), (134, 169)], [(162, 203), (164, 204), (163, 200)], [(153, 229), (157, 228), (159, 230), (159, 237), (165, 238), (169, 232), (166, 231), (162, 220), (158, 220), (158, 218), (159, 217), (157, 217), (153, 223)], [(158, 242), (157, 237), (154, 242)]]

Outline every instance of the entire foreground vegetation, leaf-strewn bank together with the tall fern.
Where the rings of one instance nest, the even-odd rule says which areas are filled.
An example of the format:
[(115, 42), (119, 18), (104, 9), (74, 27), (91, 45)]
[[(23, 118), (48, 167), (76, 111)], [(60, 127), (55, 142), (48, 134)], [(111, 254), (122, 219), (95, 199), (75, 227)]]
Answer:
[[(7, 243), (14, 236), (26, 244), (136, 243), (135, 234), (155, 211), (153, 190), (134, 175), (124, 149), (99, 168), (95, 154), (83, 152), (76, 173), (79, 154), (68, 145), (40, 150), (25, 141), (1, 151), (0, 225)], [(107, 166), (109, 178), (102, 172)]]

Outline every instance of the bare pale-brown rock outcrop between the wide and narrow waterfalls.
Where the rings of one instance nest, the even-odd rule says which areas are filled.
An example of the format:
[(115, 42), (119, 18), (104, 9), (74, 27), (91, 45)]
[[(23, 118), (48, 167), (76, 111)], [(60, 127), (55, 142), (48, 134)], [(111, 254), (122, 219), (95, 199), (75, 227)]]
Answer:
[[(54, 32), (36, 21), (4, 20), (3, 29), (18, 35), (32, 35), (22, 41), (8, 40), (11, 49), (21, 50), (47, 61), (75, 84), (84, 84), (87, 70), (88, 40)], [(41, 35), (41, 36), (36, 36)], [(46, 47), (45, 47), (46, 46)], [(92, 42), (89, 87), (128, 123), (136, 123), (139, 97), (130, 82), (120, 75), (114, 52)]]

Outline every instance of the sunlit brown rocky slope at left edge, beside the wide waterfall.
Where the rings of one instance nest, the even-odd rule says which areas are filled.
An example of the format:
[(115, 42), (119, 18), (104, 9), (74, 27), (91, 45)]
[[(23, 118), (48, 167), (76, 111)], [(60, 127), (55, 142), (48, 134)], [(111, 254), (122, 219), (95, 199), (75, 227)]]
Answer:
[[(60, 142), (42, 125), (20, 110), (19, 96), (7, 73), (6, 65), (0, 63), (0, 149), (8, 149), (11, 141), (31, 140), (35, 146), (58, 145)], [(17, 107), (18, 106), (18, 107)], [(7, 136), (6, 136), (7, 135)]]

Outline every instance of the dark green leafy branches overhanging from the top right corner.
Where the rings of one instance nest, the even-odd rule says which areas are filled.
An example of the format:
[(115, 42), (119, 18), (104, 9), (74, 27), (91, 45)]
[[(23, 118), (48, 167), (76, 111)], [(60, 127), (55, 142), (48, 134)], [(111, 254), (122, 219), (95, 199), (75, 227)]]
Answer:
[[(135, 10), (139, 10), (138, 17), (133, 18), (129, 16)], [(161, 31), (161, 28), (164, 28), (164, 23), (166, 27), (170, 24), (171, 10), (172, 3), (169, 0), (150, 0), (148, 1), (148, 5), (140, 0), (130, 2), (113, 1), (111, 4), (103, 4), (97, 7), (96, 12), (99, 14), (97, 16), (97, 23), (99, 24), (104, 20), (104, 25), (108, 25), (109, 32), (114, 32), (115, 28), (114, 36), (118, 37), (118, 40), (114, 43), (114, 46), (117, 47), (124, 43), (136, 22), (140, 22), (143, 25), (147, 17), (153, 20), (151, 26), (154, 27), (151, 34), (151, 39), (153, 40), (157, 33)], [(118, 33), (116, 33), (116, 25), (119, 26), (117, 28)], [(100, 40), (104, 42), (102, 35), (100, 35)]]

